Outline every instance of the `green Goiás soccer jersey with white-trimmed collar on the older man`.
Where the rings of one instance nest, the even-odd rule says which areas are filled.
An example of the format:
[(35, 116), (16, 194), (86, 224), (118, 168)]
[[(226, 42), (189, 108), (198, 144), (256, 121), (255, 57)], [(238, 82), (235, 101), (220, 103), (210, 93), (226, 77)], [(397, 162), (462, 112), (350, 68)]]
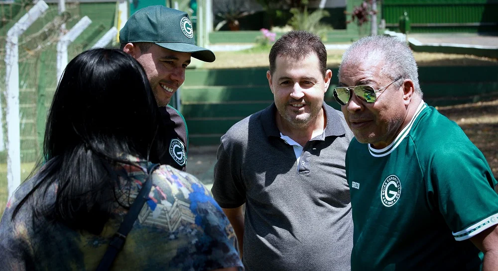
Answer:
[(480, 269), (468, 239), (498, 223), (497, 181), (455, 122), (422, 102), (384, 149), (353, 139), (346, 173), (352, 271)]

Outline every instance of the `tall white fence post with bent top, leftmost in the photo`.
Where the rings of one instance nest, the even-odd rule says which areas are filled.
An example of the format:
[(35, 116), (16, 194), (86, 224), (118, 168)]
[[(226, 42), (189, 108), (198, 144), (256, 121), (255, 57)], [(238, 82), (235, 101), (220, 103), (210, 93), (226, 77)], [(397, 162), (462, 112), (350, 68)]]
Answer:
[(39, 0), (7, 32), (5, 85), (7, 122), (7, 190), (10, 198), (21, 183), (21, 139), (19, 127), (19, 36), (40, 17), (48, 5)]

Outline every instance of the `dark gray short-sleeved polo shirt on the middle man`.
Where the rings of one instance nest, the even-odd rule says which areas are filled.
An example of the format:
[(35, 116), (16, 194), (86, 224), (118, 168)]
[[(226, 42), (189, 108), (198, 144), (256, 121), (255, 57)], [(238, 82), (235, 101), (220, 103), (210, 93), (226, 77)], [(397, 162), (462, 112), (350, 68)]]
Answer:
[(353, 247), (345, 156), (353, 138), (344, 116), (323, 105), (324, 132), (305, 146), (297, 165), (280, 138), (271, 104), (221, 138), (214, 198), (223, 208), (246, 203), (247, 271), (348, 271)]

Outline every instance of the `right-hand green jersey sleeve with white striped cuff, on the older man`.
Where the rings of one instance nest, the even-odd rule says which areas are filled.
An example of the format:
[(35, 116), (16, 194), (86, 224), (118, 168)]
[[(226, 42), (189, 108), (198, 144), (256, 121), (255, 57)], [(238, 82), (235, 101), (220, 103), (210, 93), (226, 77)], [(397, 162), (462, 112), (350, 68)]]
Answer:
[(440, 148), (431, 161), (430, 180), (439, 211), (457, 241), (498, 224), (497, 181), (484, 155), (470, 141)]

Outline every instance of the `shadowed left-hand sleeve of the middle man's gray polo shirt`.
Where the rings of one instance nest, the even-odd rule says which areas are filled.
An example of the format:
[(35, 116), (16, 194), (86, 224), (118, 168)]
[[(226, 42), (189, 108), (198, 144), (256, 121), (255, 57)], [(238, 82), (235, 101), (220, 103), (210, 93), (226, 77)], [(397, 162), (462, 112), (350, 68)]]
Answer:
[(246, 187), (242, 177), (242, 148), (231, 144), (227, 135), (222, 137), (218, 148), (218, 161), (214, 169), (214, 183), (211, 191), (223, 208), (237, 208), (246, 202)]

